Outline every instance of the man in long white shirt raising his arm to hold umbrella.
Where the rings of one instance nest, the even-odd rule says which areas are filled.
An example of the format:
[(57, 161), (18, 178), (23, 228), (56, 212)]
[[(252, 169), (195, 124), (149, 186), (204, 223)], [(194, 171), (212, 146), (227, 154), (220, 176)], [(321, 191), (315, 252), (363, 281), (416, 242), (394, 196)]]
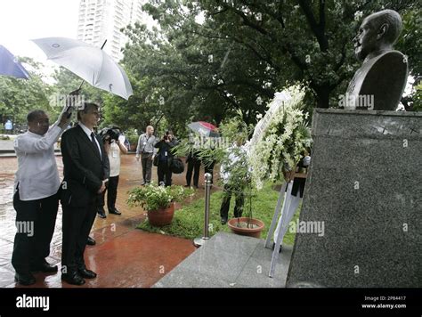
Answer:
[(60, 177), (54, 157), (54, 143), (69, 125), (67, 112), (49, 127), (43, 110), (28, 113), (28, 131), (14, 141), (18, 171), (14, 183), (13, 207), (17, 233), (14, 238), (12, 265), (15, 280), (21, 285), (36, 282), (32, 272), (57, 272), (48, 264), (56, 222)]

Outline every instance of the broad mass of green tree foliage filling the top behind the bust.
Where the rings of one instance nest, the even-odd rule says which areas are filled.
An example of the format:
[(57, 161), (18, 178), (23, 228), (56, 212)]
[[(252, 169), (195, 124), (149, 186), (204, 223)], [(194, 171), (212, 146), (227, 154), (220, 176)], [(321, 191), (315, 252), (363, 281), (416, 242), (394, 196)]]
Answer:
[(124, 63), (137, 81), (148, 78), (145, 89), (163, 95), (171, 125), (219, 124), (237, 110), (254, 123), (273, 94), (293, 84), (304, 86), (308, 110), (336, 107), (360, 66), (357, 28), (384, 8), (402, 14), (396, 49), (420, 76), (420, 8), (405, 0), (153, 1), (143, 10), (158, 27), (126, 28)]

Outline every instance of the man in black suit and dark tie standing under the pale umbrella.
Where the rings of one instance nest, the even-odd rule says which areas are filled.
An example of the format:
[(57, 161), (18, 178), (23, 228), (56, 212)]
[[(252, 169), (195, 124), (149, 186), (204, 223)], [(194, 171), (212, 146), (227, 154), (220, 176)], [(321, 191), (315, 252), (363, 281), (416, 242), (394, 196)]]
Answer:
[(63, 244), (61, 279), (82, 285), (96, 273), (85, 266), (84, 252), (95, 219), (99, 194), (106, 188), (109, 158), (93, 133), (100, 117), (98, 105), (85, 102), (77, 111), (77, 126), (61, 136), (64, 179), (61, 185)]

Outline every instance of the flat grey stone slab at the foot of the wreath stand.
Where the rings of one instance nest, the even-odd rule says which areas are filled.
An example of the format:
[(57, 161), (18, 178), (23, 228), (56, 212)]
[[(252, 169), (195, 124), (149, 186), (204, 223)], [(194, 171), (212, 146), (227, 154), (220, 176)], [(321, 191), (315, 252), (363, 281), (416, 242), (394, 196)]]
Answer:
[(270, 278), (272, 250), (264, 244), (262, 239), (217, 232), (154, 288), (284, 288), (293, 248), (283, 245)]

